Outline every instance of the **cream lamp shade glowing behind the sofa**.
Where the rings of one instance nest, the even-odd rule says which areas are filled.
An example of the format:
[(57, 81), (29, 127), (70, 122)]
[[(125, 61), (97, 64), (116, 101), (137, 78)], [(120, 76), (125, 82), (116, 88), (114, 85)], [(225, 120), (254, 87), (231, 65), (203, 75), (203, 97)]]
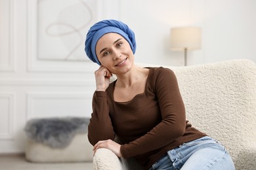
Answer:
[(171, 29), (171, 50), (194, 50), (201, 47), (200, 27), (176, 27)]

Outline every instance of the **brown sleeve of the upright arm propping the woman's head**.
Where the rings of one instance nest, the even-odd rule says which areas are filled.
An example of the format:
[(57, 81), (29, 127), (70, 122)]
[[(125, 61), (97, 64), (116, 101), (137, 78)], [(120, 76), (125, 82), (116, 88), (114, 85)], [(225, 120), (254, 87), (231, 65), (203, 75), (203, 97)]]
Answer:
[(93, 146), (98, 141), (114, 140), (115, 134), (110, 119), (106, 92), (95, 92), (93, 95), (93, 113), (88, 126), (88, 139)]

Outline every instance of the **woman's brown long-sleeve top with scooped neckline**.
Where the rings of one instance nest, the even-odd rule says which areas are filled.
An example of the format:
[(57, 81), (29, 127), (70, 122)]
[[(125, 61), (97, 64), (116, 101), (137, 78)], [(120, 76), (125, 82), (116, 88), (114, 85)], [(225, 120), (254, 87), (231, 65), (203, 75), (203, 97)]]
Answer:
[(131, 101), (114, 101), (116, 82), (106, 92), (93, 95), (93, 113), (88, 126), (91, 144), (112, 139), (121, 145), (123, 158), (134, 157), (146, 169), (168, 150), (205, 136), (186, 121), (184, 104), (173, 71), (148, 68), (144, 93)]

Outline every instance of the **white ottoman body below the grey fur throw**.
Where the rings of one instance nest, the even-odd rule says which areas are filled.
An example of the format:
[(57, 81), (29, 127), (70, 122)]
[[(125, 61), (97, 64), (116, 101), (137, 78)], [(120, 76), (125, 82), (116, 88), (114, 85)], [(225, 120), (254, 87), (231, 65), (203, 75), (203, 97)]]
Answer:
[(93, 161), (93, 146), (87, 140), (87, 133), (75, 135), (66, 148), (52, 148), (27, 139), (25, 153), (26, 160), (33, 162)]

